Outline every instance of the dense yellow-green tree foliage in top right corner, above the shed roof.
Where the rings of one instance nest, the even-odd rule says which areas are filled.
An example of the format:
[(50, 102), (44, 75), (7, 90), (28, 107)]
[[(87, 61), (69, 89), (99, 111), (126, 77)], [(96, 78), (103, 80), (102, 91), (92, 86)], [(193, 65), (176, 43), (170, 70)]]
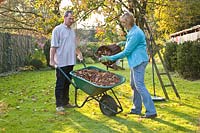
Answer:
[(149, 13), (154, 17), (154, 30), (157, 39), (165, 41), (169, 35), (199, 24), (199, 0), (156, 0), (154, 11)]

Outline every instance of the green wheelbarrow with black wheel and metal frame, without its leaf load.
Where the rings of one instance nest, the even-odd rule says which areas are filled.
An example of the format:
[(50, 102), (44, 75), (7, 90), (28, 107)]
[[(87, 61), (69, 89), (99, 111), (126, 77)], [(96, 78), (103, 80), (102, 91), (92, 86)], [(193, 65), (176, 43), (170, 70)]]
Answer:
[[(85, 63), (84, 62), (82, 62), (82, 63), (84, 65), (84, 68), (79, 69), (79, 70), (96, 69), (96, 70), (100, 70), (100, 71), (106, 71), (106, 70), (100, 69), (95, 66), (86, 67)], [(126, 80), (125, 77), (115, 74), (116, 76), (119, 77), (120, 82), (118, 82), (114, 85), (111, 85), (111, 86), (100, 86), (100, 85), (96, 85), (84, 78), (77, 76), (75, 73), (78, 70), (70, 72), (70, 75), (72, 76), (72, 80), (71, 80), (60, 67), (57, 67), (57, 68), (62, 72), (62, 74), (67, 78), (67, 80), (75, 88), (75, 106), (76, 107), (81, 108), (85, 105), (86, 102), (94, 99), (97, 102), (99, 102), (100, 110), (104, 115), (115, 116), (116, 114), (123, 111), (121, 103), (120, 103), (119, 99), (117, 98), (115, 92), (113, 91), (113, 88), (124, 83)], [(82, 90), (83, 92), (85, 92), (88, 95), (85, 98), (85, 100), (82, 102), (82, 104), (80, 104), (80, 105), (78, 105), (78, 98), (77, 98), (78, 90)], [(112, 96), (108, 95), (108, 93), (107, 93), (108, 91), (112, 92), (114, 98)]]

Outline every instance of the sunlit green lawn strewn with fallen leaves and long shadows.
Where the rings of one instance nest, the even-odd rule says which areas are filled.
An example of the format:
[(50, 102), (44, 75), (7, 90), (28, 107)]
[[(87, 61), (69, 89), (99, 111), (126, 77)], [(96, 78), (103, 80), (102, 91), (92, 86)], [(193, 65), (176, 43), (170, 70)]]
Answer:
[[(105, 69), (101, 64), (93, 64), (93, 66)], [(81, 67), (80, 64), (75, 69)], [(113, 117), (103, 115), (95, 100), (87, 102), (82, 108), (68, 109), (65, 114), (57, 114), (54, 98), (54, 70), (26, 71), (0, 77), (0, 132), (200, 132), (199, 80), (187, 81), (177, 74), (172, 74), (181, 100), (169, 88), (167, 92), (170, 100), (155, 102), (158, 117), (141, 119), (137, 115), (127, 115), (132, 106), (129, 69), (126, 67), (125, 70), (112, 70), (112, 72), (119, 73), (127, 79), (124, 84), (113, 89), (124, 109)], [(147, 88), (153, 95), (151, 65), (147, 68), (145, 80)], [(72, 86), (70, 92), (73, 102)], [(164, 97), (157, 78), (156, 94)], [(83, 102), (86, 96), (88, 95), (80, 90), (79, 103)]]

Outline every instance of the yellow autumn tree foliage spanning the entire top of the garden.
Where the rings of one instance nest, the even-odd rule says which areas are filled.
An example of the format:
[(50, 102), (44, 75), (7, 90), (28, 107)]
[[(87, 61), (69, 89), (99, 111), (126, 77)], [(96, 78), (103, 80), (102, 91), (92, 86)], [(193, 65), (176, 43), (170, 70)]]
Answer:
[(127, 32), (119, 17), (129, 11), (142, 29), (146, 18), (153, 37), (163, 44), (171, 33), (200, 22), (199, 0), (72, 0), (73, 5), (64, 9), (59, 8), (60, 3), (61, 0), (4, 0), (0, 5), (0, 30), (49, 38), (52, 29), (63, 21), (64, 10), (70, 9), (74, 11), (77, 23), (92, 14), (103, 15), (104, 22), (93, 27), (96, 37), (101, 41), (118, 42), (124, 40)]

